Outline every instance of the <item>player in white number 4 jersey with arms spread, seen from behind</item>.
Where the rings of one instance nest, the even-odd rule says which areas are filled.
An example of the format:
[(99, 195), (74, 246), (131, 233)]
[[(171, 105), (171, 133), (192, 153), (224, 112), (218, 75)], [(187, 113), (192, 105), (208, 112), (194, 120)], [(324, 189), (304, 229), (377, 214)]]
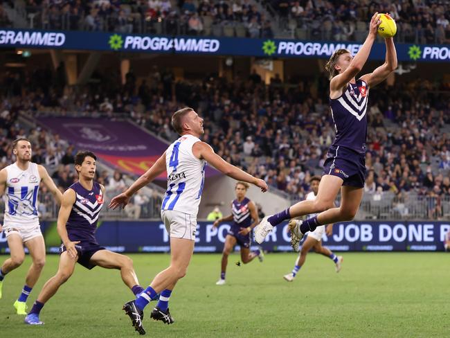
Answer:
[(170, 266), (155, 276), (136, 301), (129, 301), (123, 307), (141, 335), (145, 335), (143, 309), (159, 292), (159, 302), (150, 317), (168, 324), (174, 321), (168, 301), (179, 279), (186, 275), (194, 250), (206, 163), (233, 179), (254, 184), (263, 192), (267, 190), (266, 182), (227, 163), (215, 154), (210, 145), (199, 139), (204, 134), (203, 118), (194, 109), (186, 107), (175, 112), (172, 127), (181, 137), (169, 146), (152, 168), (109, 204), (110, 208), (125, 207), (134, 193), (167, 171), (168, 188), (161, 206), (161, 218), (170, 234)]

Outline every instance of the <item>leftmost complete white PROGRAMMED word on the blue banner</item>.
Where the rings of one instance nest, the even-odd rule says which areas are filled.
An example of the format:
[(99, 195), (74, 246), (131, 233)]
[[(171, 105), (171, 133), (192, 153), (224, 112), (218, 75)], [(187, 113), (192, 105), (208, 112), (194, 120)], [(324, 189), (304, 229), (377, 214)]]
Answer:
[(195, 39), (184, 37), (142, 37), (127, 35), (123, 49), (127, 51), (177, 51), (216, 53), (219, 51), (218, 39)]

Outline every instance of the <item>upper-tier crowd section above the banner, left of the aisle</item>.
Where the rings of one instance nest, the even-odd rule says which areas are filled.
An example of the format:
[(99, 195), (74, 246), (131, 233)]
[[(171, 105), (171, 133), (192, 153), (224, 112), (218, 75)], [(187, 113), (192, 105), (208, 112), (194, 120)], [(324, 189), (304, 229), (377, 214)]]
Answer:
[(250, 0), (27, 0), (23, 12), (42, 29), (273, 36), (271, 21)]

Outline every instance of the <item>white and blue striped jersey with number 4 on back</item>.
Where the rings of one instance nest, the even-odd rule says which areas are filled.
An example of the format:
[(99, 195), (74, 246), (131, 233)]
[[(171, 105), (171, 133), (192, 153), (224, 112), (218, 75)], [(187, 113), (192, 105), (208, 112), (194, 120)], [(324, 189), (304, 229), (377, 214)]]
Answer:
[(197, 159), (192, 146), (198, 137), (186, 134), (172, 143), (165, 152), (168, 188), (162, 210), (174, 210), (197, 217), (205, 183), (206, 161)]

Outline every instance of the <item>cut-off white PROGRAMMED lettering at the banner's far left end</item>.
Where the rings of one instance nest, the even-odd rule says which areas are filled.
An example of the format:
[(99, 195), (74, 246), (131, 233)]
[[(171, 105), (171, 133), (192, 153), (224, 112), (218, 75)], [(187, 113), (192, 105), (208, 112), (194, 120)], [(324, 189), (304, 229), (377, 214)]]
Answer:
[(0, 30), (0, 44), (57, 47), (62, 46), (64, 42), (66, 42), (64, 33)]

